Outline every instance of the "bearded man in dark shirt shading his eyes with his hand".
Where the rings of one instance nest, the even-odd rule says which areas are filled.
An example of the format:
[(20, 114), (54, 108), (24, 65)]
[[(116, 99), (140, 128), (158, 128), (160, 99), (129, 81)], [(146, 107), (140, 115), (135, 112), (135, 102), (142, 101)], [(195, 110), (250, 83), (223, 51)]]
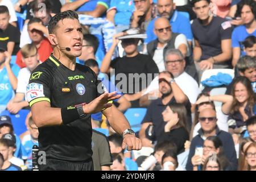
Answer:
[[(159, 74), (159, 92), (162, 97), (153, 100), (148, 106), (147, 113), (142, 121), (142, 127), (139, 131), (139, 138), (142, 139), (143, 147), (152, 147), (152, 142), (158, 141), (164, 133), (164, 126), (167, 122), (163, 120), (163, 111), (171, 103), (183, 104), (187, 110), (187, 125), (191, 126), (191, 105), (188, 97), (183, 93), (174, 81), (170, 72), (161, 72)], [(150, 125), (154, 126), (152, 135), (149, 138), (148, 129)]]

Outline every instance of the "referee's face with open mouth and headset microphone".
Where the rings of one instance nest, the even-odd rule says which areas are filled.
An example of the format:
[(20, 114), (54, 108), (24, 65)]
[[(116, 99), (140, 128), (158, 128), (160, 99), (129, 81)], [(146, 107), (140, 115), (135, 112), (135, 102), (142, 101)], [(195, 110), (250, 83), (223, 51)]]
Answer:
[[(56, 40), (61, 51), (68, 56), (80, 56), (82, 53), (82, 27), (77, 19), (65, 18), (57, 23)], [(70, 48), (67, 51), (65, 48)]]

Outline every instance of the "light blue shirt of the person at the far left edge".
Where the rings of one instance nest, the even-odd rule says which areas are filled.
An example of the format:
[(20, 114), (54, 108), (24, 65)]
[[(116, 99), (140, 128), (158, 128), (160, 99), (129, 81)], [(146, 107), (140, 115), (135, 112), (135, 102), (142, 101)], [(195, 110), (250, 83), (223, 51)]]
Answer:
[[(18, 77), (20, 68), (16, 64), (10, 65), (14, 75)], [(11, 82), (7, 70), (4, 67), (2, 71), (0, 71), (0, 105), (7, 105), (13, 96), (14, 90), (11, 87)]]

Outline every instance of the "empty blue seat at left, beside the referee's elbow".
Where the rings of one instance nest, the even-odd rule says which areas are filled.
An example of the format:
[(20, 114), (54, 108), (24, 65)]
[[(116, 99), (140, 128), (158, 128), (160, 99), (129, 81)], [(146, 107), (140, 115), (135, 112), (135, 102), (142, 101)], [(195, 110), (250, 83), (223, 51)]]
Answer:
[(2, 111), (0, 115), (8, 115), (11, 118), (11, 122), (13, 123), (14, 133), (16, 135), (20, 135), (27, 131), (27, 126), (25, 124), (27, 114), (30, 110), (22, 109), (17, 114), (11, 114), (8, 110)]

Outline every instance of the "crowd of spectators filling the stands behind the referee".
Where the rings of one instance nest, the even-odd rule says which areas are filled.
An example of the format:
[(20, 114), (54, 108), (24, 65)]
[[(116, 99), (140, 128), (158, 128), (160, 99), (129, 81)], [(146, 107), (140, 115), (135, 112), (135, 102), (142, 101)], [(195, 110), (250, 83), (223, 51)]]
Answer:
[(76, 63), (121, 94), (124, 114), (146, 110), (140, 151), (91, 115), (94, 170), (256, 171), (254, 0), (0, 0), (0, 171), (32, 169), (27, 84), (53, 51), (49, 20), (66, 10), (84, 35)]

